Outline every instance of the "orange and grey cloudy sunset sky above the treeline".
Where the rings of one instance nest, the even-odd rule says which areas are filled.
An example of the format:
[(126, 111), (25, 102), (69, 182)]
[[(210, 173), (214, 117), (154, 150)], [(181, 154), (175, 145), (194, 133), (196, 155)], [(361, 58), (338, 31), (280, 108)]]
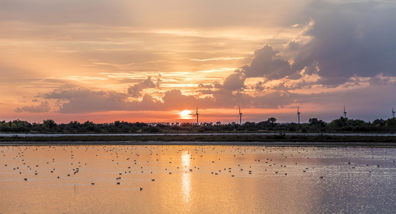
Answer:
[(386, 119), (395, 38), (394, 0), (1, 0), (0, 120)]

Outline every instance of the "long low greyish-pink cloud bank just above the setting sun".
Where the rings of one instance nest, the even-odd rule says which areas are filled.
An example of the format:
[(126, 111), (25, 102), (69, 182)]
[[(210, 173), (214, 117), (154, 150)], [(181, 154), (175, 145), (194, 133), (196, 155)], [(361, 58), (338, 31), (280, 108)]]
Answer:
[[(91, 91), (89, 89), (58, 90), (49, 94), (51, 96), (46, 96), (47, 98), (63, 98), (68, 101), (65, 103), (59, 103), (59, 110), (56, 112), (62, 114), (76, 114), (124, 110), (169, 111), (194, 109), (196, 106), (201, 109), (233, 108), (236, 105), (240, 105), (241, 107), (249, 106), (251, 108), (272, 108), (286, 104), (287, 96), (291, 93), (265, 93), (259, 97), (253, 97), (240, 92), (232, 93), (231, 91), (222, 88), (215, 91), (212, 97), (201, 98), (193, 95), (183, 95), (180, 90), (173, 89), (166, 91), (164, 96), (160, 99), (153, 98), (149, 94), (145, 94), (141, 101), (129, 101), (127, 93), (118, 93), (114, 91)], [(68, 96), (65, 96), (66, 94)], [(293, 102), (293, 99), (289, 99), (288, 102)]]

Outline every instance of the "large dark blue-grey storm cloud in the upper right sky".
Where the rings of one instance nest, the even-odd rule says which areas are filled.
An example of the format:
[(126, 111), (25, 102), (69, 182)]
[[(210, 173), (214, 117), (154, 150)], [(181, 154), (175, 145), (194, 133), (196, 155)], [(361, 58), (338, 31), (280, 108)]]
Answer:
[(314, 25), (305, 35), (312, 39), (299, 47), (293, 71), (317, 65), (317, 72), (310, 69), (308, 73), (317, 73), (323, 78), (321, 84), (329, 86), (353, 76), (396, 76), (394, 4), (313, 2), (307, 13)]

